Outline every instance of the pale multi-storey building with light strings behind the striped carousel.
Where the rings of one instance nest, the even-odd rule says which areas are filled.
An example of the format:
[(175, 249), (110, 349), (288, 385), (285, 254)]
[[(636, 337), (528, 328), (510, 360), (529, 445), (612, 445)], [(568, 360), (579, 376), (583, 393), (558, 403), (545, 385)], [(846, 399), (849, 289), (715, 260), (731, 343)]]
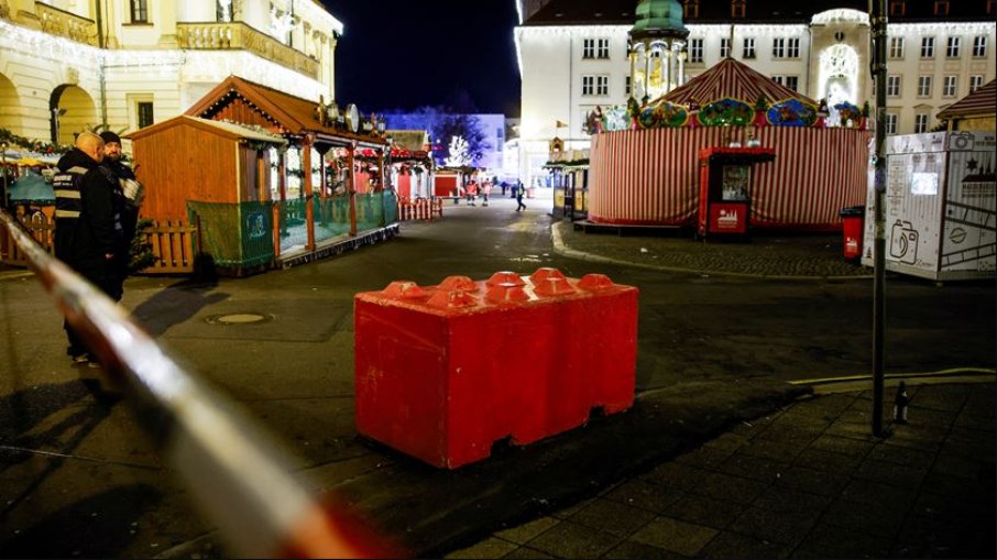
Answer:
[[(813, 99), (861, 107), (874, 97), (867, 0), (670, 1), (689, 30), (682, 81), (732, 56)], [(588, 147), (588, 113), (629, 98), (629, 32), (638, 3), (548, 0), (527, 17), (517, 2), (524, 182), (546, 175), (551, 138), (562, 138), (567, 150)], [(930, 130), (939, 111), (994, 79), (995, 3), (887, 1), (888, 133)], [(568, 128), (558, 130), (558, 121)]]

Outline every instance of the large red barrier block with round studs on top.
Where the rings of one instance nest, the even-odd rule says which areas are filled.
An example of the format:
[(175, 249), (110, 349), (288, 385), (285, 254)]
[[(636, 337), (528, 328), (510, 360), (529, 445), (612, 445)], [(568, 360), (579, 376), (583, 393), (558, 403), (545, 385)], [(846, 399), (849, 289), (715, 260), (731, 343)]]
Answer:
[(358, 431), (430, 464), (633, 406), (637, 288), (604, 275), (394, 282), (354, 304)]

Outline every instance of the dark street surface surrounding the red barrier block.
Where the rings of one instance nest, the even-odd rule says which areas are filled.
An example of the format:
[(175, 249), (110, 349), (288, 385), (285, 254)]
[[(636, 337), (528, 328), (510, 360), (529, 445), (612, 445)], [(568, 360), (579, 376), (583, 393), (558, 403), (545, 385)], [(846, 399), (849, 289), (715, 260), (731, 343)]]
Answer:
[[(551, 235), (550, 218), (541, 207), (549, 201), (527, 205), (526, 212), (516, 213), (515, 202), (507, 199), (493, 198), (489, 208), (447, 202), (442, 221), (404, 223), (402, 235), (382, 245), (243, 279), (197, 284), (133, 278), (122, 305), (179, 362), (288, 442), (295, 466), (314, 481), (317, 492), (333, 492), (365, 512), (415, 556), (443, 554), (481, 539), (485, 543), (479, 547), (497, 548), (474, 548), (468, 556), (645, 556), (640, 550), (714, 558), (752, 556), (753, 550), (763, 557), (769, 550), (771, 556), (824, 556), (808, 552), (813, 550), (804, 546), (810, 536), (824, 535), (825, 525), (850, 528), (834, 520), (847, 517), (842, 512), (855, 502), (891, 496), (850, 485), (885, 483), (877, 479), (885, 471), (877, 468), (911, 454), (905, 454), (908, 448), (929, 453), (913, 453), (918, 457), (911, 463), (898, 466), (919, 469), (901, 473), (917, 480), (911, 484), (919, 492), (914, 502), (903, 502), (907, 506), (928, 504), (924, 507), (947, 515), (951, 509), (930, 501), (952, 497), (955, 505), (945, 507), (958, 508), (976, 504), (960, 484), (993, 488), (994, 416), (993, 406), (989, 411), (984, 406), (993, 405), (993, 374), (988, 385), (919, 387), (911, 424), (884, 441), (866, 435), (867, 418), (862, 415), (867, 414), (868, 395), (862, 389), (799, 402), (810, 394), (809, 385), (786, 383), (869, 371), (872, 282), (867, 270), (841, 262), (839, 238), (758, 235), (749, 244), (702, 244), (681, 238), (584, 235), (563, 224), (555, 224)], [(529, 274), (540, 266), (572, 277), (604, 273), (640, 289), (634, 409), (453, 472), (436, 471), (357, 438), (353, 294), (382, 289), (395, 279), (434, 285), (449, 275), (479, 279), (503, 270)], [(939, 287), (890, 276), (887, 297), (888, 372), (993, 371), (993, 282)], [(58, 311), (37, 282), (17, 271), (0, 271), (0, 309), (3, 556), (222, 554), (213, 528), (194, 515), (187, 491), (163, 466), (129, 408), (96, 403), (80, 384), (81, 372), (64, 355)], [(266, 320), (212, 320), (252, 312)], [(577, 336), (584, 337), (584, 326), (578, 329)], [(935, 392), (942, 396), (932, 396)], [(793, 421), (797, 416), (799, 422)], [(944, 437), (938, 426), (947, 427)], [(907, 438), (918, 444), (901, 444)], [(723, 457), (700, 446), (720, 447)], [(977, 462), (950, 464), (950, 453), (939, 450), (953, 446), (960, 452), (972, 449), (960, 457)], [(850, 451), (852, 447), (862, 452)], [(706, 455), (714, 461), (697, 462)], [(686, 466), (697, 469), (699, 477), (734, 477), (728, 482), (754, 490), (730, 499), (703, 495), (706, 490), (668, 479), (669, 470)], [(840, 483), (833, 487), (841, 493), (815, 490), (821, 485), (810, 479), (823, 476), (815, 466), (831, 470), (828, 475)], [(782, 487), (789, 472), (803, 482)], [(782, 482), (774, 482), (774, 473)], [(667, 506), (621, 499), (640, 484), (673, 485), (675, 499)], [(843, 494), (850, 487), (851, 493)], [(932, 493), (929, 487), (945, 490)], [(764, 496), (789, 491), (793, 499), (787, 504), (809, 494), (822, 498), (814, 498), (819, 513), (808, 513), (785, 536), (766, 538), (764, 519), (786, 506)], [(993, 496), (993, 490), (988, 492)], [(604, 498), (592, 501), (600, 494)], [(706, 504), (727, 513), (720, 520), (676, 513), (699, 507), (704, 516), (713, 515)], [(590, 507), (595, 509), (582, 515)], [(891, 515), (900, 516), (901, 530), (928, 535), (907, 524), (924, 520), (916, 515), (923, 510), (910, 507)], [(601, 535), (583, 529), (600, 509), (611, 517), (626, 513), (634, 520), (606, 527), (610, 537), (600, 536), (598, 546), (572, 549), (570, 538), (568, 548), (555, 546), (563, 535)], [(974, 519), (993, 521), (994, 501), (974, 512), (979, 514)], [(936, 516), (921, 517), (931, 523)], [(638, 519), (646, 523), (636, 526)], [(508, 529), (523, 521), (537, 525)], [(689, 532), (693, 540), (679, 549), (670, 540), (660, 546), (669, 531), (686, 534), (687, 526), (680, 524), (695, 527)], [(503, 527), (511, 532), (489, 537)], [(834, 538), (833, 530), (825, 532)], [(887, 550), (897, 556), (934, 553), (925, 543), (890, 548), (902, 543), (890, 537), (896, 531), (872, 535), (879, 540), (855, 540), (856, 547), (862, 542), (868, 548), (832, 557), (879, 556), (887, 540)], [(751, 548), (762, 546), (758, 542), (774, 548)], [(991, 551), (993, 539), (989, 546)]]

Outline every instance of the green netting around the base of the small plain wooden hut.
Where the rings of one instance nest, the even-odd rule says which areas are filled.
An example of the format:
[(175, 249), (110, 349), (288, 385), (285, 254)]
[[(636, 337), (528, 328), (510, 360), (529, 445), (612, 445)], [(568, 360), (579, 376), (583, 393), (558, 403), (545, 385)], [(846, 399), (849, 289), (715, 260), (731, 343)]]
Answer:
[(188, 200), (187, 215), (198, 226), (201, 251), (217, 266), (241, 268), (274, 260), (273, 202)]

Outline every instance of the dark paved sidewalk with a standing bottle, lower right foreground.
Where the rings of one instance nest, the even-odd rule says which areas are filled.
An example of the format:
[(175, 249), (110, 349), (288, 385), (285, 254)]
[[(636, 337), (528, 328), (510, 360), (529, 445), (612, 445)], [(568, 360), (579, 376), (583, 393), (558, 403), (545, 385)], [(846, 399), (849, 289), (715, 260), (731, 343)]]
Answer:
[(889, 437), (812, 396), (446, 558), (994, 558), (994, 383), (909, 394)]

